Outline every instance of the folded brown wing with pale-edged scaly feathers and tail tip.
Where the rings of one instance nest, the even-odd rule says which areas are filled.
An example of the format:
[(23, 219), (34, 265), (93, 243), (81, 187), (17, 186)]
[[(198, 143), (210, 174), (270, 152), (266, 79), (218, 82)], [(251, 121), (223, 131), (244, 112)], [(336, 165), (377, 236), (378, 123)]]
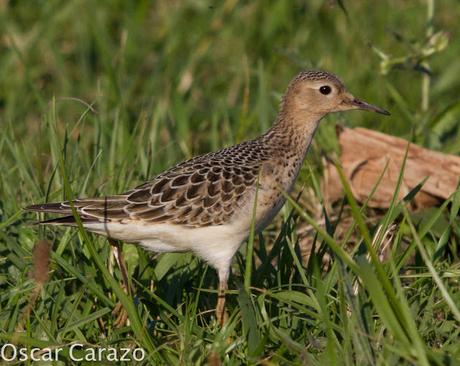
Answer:
[[(263, 154), (252, 151), (256, 145), (245, 144), (185, 161), (123, 194), (72, 203), (84, 220), (167, 222), (191, 227), (224, 224), (245, 194), (255, 189), (264, 161)], [(72, 215), (70, 202), (33, 205), (26, 210)], [(68, 223), (70, 216), (61, 221)]]

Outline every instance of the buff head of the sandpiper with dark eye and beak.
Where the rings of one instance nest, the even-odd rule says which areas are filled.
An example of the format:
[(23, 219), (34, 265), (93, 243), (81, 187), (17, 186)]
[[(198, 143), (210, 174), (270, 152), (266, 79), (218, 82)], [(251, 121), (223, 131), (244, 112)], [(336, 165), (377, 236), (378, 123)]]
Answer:
[(318, 116), (353, 109), (390, 115), (380, 107), (355, 98), (337, 76), (324, 71), (304, 71), (297, 75), (289, 84), (284, 103), (298, 112)]

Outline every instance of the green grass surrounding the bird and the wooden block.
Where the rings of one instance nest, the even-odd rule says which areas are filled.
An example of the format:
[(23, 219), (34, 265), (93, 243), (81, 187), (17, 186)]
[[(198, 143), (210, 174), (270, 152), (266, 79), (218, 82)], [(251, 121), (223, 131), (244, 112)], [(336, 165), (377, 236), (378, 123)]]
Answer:
[[(395, 199), (373, 220), (348, 194), (346, 223), (288, 203), (250, 238), (253, 260), (246, 244), (236, 256), (223, 329), (215, 272), (191, 254), (125, 245), (130, 298), (104, 238), (32, 226), (39, 217), (22, 211), (122, 192), (256, 136), (306, 68), (392, 113), (322, 122), (298, 182), (316, 203), (336, 124), (458, 155), (459, 18), (457, 0), (0, 0), (0, 345), (63, 347), (62, 364), (78, 363), (75, 343), (140, 347), (144, 364), (460, 364), (460, 191), (416, 213)], [(46, 249), (32, 254), (40, 239), (49, 274)]]

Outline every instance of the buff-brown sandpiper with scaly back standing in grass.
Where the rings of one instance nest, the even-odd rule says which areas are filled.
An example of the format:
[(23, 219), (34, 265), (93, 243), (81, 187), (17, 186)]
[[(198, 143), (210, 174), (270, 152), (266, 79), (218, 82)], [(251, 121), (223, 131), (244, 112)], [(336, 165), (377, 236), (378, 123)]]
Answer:
[(277, 117), (252, 140), (181, 162), (121, 194), (28, 206), (60, 214), (44, 225), (76, 226), (152, 252), (193, 252), (218, 276), (216, 320), (225, 323), (232, 258), (251, 225), (264, 229), (292, 191), (321, 119), (329, 113), (390, 113), (354, 97), (334, 74), (307, 70), (289, 83)]

